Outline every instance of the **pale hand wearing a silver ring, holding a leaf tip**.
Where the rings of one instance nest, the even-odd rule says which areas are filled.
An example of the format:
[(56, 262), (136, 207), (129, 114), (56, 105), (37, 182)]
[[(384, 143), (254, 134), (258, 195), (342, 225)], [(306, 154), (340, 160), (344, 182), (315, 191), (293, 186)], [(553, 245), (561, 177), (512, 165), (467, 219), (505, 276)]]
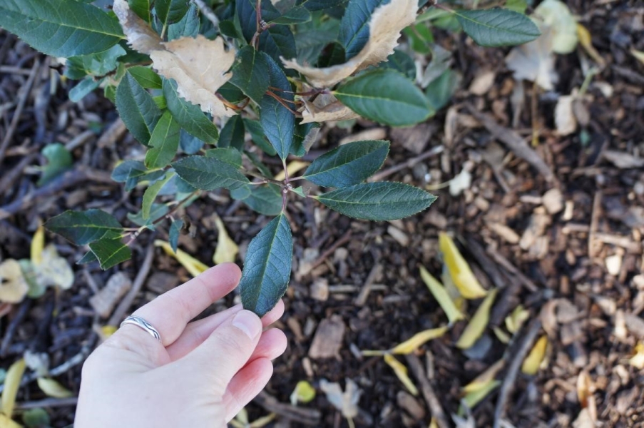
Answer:
[(75, 428), (225, 427), (266, 386), (283, 332), (262, 327), (282, 316), (280, 303), (262, 320), (241, 305), (190, 322), (240, 280), (225, 263), (141, 307), (161, 341), (124, 325), (83, 365)]

